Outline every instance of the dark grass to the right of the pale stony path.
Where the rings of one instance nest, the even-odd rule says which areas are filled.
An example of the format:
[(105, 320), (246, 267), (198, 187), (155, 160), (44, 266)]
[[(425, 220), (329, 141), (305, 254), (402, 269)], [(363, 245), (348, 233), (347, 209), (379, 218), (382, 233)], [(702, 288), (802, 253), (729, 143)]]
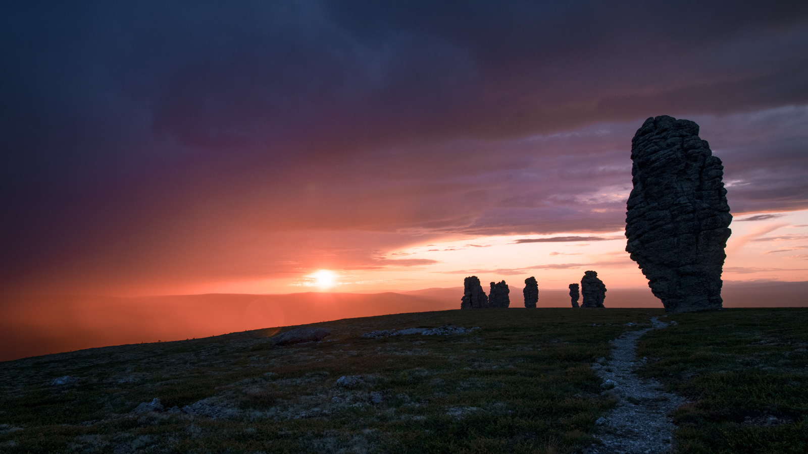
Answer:
[(641, 339), (638, 373), (691, 400), (675, 412), (682, 452), (808, 452), (808, 310), (673, 318)]

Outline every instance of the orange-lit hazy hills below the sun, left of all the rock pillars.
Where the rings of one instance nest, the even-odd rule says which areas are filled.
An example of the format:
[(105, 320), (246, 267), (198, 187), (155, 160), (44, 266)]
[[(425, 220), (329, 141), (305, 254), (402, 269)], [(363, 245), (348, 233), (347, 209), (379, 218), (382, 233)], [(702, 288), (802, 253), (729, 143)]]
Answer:
[(0, 360), (106, 345), (200, 338), (271, 326), (459, 307), (459, 303), (449, 304), (423, 296), (391, 292), (136, 298), (26, 296), (2, 306)]

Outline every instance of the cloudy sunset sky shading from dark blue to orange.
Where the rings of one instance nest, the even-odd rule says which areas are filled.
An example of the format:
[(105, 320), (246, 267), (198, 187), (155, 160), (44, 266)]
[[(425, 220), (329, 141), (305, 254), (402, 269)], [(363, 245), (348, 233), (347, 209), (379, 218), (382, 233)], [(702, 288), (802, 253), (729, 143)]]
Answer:
[(808, 2), (4, 2), (0, 58), (0, 295), (640, 288), (659, 115), (724, 279), (808, 280)]

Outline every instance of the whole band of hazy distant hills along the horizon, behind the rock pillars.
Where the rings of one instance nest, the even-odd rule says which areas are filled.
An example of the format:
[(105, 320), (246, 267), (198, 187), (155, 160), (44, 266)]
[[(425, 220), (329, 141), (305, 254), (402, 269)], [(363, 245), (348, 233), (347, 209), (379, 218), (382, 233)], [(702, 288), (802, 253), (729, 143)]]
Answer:
[[(608, 283), (607, 283), (608, 285)], [(808, 282), (735, 283), (724, 286), (725, 307), (801, 307)], [(176, 296), (25, 296), (0, 308), (0, 360), (82, 348), (200, 338), (272, 326), (390, 313), (459, 309), (463, 288), (412, 292), (207, 294)], [(648, 288), (611, 288), (607, 307), (662, 303)], [(564, 290), (539, 289), (539, 307), (570, 307)], [(522, 307), (522, 288), (511, 288), (511, 308)]]

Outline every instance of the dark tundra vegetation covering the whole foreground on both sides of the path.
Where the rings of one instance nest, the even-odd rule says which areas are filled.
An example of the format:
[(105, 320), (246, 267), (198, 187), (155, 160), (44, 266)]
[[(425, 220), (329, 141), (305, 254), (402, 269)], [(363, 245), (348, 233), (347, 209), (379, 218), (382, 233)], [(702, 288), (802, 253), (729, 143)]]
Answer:
[[(0, 451), (582, 452), (616, 405), (592, 364), (662, 316), (405, 313), (318, 323), (319, 343), (275, 346), (284, 328), (8, 361)], [(674, 415), (681, 451), (808, 452), (808, 309), (663, 320), (678, 324), (641, 338), (638, 373), (691, 401)], [(479, 329), (362, 336), (444, 325)], [(154, 398), (164, 411), (141, 406)]]

